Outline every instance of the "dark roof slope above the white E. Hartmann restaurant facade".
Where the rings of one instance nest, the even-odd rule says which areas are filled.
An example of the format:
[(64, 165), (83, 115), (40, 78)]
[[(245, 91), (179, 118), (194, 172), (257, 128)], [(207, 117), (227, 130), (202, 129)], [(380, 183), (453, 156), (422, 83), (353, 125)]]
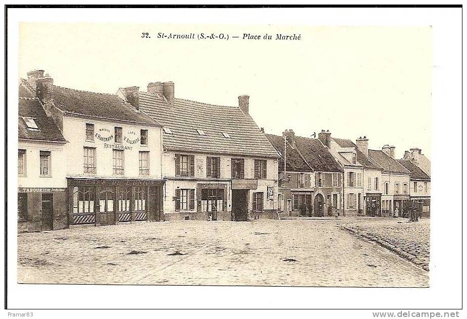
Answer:
[(116, 94), (79, 91), (54, 85), (54, 103), (65, 112), (84, 116), (160, 125), (146, 114), (137, 113), (131, 104)]

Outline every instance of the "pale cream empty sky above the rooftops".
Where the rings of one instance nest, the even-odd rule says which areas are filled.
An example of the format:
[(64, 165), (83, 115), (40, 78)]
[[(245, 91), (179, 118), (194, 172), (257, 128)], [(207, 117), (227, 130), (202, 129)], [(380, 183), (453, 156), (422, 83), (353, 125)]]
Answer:
[[(394, 145), (397, 158), (412, 147), (430, 157), (430, 27), (21, 23), (19, 30), (23, 78), (41, 69), (56, 85), (102, 93), (173, 81), (176, 98), (231, 106), (247, 94), (266, 133), (310, 137), (325, 129), (353, 141), (367, 136), (371, 149)], [(275, 40), (277, 33), (300, 40)]]

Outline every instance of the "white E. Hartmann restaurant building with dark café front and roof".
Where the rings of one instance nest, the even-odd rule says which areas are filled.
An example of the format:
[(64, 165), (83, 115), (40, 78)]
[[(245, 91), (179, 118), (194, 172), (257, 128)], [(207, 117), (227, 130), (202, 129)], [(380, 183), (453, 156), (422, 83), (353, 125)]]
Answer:
[(116, 94), (56, 86), (43, 72), (22, 82), (67, 141), (55, 164), (65, 172), (65, 226), (162, 220), (162, 125)]

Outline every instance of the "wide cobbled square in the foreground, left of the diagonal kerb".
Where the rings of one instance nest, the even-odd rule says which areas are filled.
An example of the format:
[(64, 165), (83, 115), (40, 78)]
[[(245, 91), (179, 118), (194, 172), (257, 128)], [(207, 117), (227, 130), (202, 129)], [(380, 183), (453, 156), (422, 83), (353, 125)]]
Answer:
[(336, 227), (350, 220), (153, 222), (24, 233), (18, 282), (428, 287), (428, 272)]

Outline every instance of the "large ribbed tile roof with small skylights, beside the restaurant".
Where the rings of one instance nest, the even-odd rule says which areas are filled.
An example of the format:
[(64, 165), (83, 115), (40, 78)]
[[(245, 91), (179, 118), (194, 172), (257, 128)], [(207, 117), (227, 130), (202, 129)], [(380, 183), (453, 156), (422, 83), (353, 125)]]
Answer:
[[(175, 98), (171, 108), (164, 98), (147, 92), (139, 92), (139, 104), (143, 112), (172, 131), (172, 134), (163, 134), (167, 149), (279, 157), (253, 119), (238, 107)], [(205, 135), (199, 135), (197, 129), (203, 130)]]

